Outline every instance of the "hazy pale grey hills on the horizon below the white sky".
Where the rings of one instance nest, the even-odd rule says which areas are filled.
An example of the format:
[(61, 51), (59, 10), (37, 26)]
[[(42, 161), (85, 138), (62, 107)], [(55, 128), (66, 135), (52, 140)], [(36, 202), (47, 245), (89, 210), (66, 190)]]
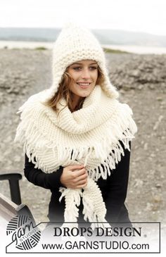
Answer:
[[(60, 32), (58, 28), (0, 27), (0, 40), (54, 42)], [(166, 36), (124, 30), (92, 30), (101, 44), (137, 46), (166, 46)]]

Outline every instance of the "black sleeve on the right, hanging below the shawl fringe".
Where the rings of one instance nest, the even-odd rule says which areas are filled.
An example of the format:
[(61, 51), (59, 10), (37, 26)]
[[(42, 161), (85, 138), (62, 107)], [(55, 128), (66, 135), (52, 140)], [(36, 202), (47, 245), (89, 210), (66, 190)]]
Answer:
[[(121, 145), (125, 155), (122, 156), (120, 162), (116, 164), (115, 170), (111, 170), (112, 174), (106, 180), (106, 185), (103, 188), (107, 217), (109, 220), (113, 221), (117, 221), (119, 215), (122, 215), (122, 213), (120, 214), (120, 211), (124, 207), (129, 180), (130, 151), (125, 149), (125, 146), (122, 143)], [(131, 142), (129, 142), (129, 146), (131, 149)]]

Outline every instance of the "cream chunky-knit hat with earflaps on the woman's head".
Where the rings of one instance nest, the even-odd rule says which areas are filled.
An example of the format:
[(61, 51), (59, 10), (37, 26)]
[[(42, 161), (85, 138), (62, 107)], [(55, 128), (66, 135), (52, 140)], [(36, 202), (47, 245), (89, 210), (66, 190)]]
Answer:
[(106, 70), (106, 58), (101, 45), (89, 30), (73, 23), (68, 23), (63, 27), (53, 45), (53, 83), (46, 92), (46, 98), (50, 99), (58, 91), (63, 73), (69, 65), (75, 61), (87, 59), (98, 63), (104, 75), (103, 83), (100, 86), (108, 96), (116, 99), (119, 94), (110, 83)]

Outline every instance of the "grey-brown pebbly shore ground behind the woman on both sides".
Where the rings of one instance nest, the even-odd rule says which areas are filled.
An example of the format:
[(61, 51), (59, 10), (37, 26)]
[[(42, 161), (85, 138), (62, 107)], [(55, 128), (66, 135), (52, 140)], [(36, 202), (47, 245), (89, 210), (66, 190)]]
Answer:
[[(23, 175), (23, 149), (15, 144), (16, 114), (28, 96), (51, 85), (51, 50), (0, 49), (1, 173)], [(110, 80), (120, 101), (131, 106), (138, 133), (132, 142), (127, 206), (132, 221), (165, 221), (166, 55), (106, 54)], [(7, 182), (2, 194), (10, 197)], [(23, 176), (23, 203), (37, 222), (47, 221), (49, 190)]]

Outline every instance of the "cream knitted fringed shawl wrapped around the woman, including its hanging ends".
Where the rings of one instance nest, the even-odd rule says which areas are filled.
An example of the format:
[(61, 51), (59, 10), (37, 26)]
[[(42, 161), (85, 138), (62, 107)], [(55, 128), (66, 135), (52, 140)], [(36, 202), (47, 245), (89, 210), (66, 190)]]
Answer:
[[(62, 111), (57, 115), (42, 104), (46, 92), (31, 96), (20, 107), (21, 122), (15, 142), (24, 144), (29, 160), (45, 173), (56, 171), (60, 165), (84, 164), (89, 180), (83, 192), (60, 189), (65, 196), (65, 221), (77, 221), (82, 197), (85, 220), (104, 222), (106, 207), (95, 181), (99, 177), (106, 180), (115, 163), (124, 156), (120, 141), (129, 149), (129, 141), (137, 130), (132, 110), (127, 104), (108, 97), (96, 85), (82, 109), (71, 113), (68, 107), (59, 104)], [(65, 99), (60, 103), (64, 105)]]

